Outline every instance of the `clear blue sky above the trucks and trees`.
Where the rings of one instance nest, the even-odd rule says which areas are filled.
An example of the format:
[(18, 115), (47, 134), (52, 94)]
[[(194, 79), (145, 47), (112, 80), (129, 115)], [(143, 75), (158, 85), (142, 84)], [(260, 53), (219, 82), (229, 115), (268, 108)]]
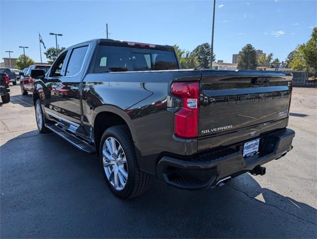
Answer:
[[(26, 54), (40, 61), (38, 32), (55, 47), (106, 37), (193, 50), (211, 41), (212, 0), (0, 0), (0, 58)], [(305, 43), (317, 25), (317, 0), (216, 0), (214, 52), (217, 60), (251, 43), (284, 60)], [(46, 60), (42, 54), (43, 60)]]

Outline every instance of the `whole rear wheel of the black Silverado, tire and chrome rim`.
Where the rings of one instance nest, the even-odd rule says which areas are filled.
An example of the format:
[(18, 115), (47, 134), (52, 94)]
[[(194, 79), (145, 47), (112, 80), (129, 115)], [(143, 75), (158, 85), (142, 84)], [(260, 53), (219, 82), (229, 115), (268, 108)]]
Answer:
[(150, 178), (140, 171), (126, 125), (106, 129), (101, 138), (100, 163), (108, 187), (119, 198), (136, 197), (149, 187)]

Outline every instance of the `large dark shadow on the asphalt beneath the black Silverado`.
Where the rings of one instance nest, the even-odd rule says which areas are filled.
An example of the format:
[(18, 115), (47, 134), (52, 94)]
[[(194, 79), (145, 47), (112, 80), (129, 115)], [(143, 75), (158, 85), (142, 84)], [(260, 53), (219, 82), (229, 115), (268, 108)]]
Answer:
[(145, 194), (120, 200), (98, 158), (57, 135), (23, 133), (0, 153), (1, 238), (316, 237), (315, 208), (249, 174), (202, 191), (153, 180)]

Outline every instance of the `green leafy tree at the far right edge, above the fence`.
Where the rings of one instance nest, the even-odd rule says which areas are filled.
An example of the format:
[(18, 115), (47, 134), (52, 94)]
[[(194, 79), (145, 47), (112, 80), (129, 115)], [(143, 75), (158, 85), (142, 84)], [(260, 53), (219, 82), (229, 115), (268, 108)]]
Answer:
[(293, 70), (306, 70), (310, 77), (317, 78), (317, 27), (306, 44), (296, 47), (290, 65)]

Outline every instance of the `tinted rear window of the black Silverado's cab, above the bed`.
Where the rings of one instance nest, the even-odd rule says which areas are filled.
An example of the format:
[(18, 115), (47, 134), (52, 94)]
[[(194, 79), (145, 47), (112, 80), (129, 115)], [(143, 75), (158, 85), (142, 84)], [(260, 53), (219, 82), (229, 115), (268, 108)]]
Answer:
[(178, 69), (174, 52), (101, 45), (98, 49), (94, 72), (174, 69)]

